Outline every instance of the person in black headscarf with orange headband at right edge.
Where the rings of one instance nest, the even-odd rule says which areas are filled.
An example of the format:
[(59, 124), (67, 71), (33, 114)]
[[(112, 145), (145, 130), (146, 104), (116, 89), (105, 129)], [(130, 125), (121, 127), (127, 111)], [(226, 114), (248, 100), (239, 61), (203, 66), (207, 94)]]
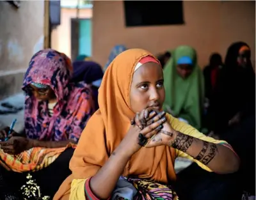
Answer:
[(221, 136), (230, 126), (255, 116), (255, 72), (250, 57), (250, 47), (244, 42), (228, 47), (209, 107), (209, 128), (215, 134)]

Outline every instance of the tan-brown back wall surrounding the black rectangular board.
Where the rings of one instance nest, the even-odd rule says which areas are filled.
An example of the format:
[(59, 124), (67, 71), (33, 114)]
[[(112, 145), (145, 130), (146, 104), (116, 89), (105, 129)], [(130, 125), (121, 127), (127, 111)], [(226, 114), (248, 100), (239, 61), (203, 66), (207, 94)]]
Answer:
[(157, 54), (178, 45), (191, 45), (200, 66), (212, 52), (225, 56), (232, 42), (252, 48), (255, 62), (255, 1), (183, 1), (183, 26), (125, 27), (122, 1), (93, 1), (93, 59), (105, 65), (111, 48), (122, 43)]

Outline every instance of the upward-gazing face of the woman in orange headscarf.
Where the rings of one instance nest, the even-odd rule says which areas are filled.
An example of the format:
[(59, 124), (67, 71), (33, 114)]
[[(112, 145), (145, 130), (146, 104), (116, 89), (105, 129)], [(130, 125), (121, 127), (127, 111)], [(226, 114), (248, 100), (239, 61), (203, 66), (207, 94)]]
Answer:
[(165, 92), (163, 70), (157, 63), (145, 63), (134, 72), (131, 84), (130, 102), (133, 112), (141, 112), (147, 107), (160, 110)]

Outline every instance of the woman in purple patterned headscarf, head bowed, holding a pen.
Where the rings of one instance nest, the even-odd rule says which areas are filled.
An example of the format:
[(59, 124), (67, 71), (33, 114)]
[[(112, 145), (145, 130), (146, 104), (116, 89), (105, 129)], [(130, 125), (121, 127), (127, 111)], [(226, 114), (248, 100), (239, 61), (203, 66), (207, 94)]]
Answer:
[(22, 86), (26, 137), (1, 131), (0, 199), (51, 199), (71, 173), (75, 144), (94, 112), (90, 88), (71, 77), (65, 54), (46, 49), (32, 57)]

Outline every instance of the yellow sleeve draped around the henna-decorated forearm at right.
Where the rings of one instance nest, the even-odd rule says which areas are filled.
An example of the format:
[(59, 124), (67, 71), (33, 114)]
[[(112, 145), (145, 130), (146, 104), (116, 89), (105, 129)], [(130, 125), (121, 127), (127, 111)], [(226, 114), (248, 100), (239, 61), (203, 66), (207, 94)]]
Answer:
[[(182, 134), (191, 135), (191, 136), (201, 139), (203, 141), (212, 142), (214, 144), (222, 144), (223, 146), (226, 146), (227, 148), (229, 148), (236, 154), (236, 152), (233, 150), (232, 146), (230, 146), (230, 144), (228, 144), (228, 142), (226, 142), (226, 141), (219, 141), (212, 137), (207, 137), (206, 135), (204, 135), (201, 132), (199, 132), (198, 130), (196, 130), (196, 128), (193, 128), (190, 125), (188, 125), (187, 123), (179, 121), (179, 119), (173, 118), (172, 116), (170, 116), (170, 123), (175, 130), (181, 132)], [(175, 153), (176, 153), (176, 157), (188, 158), (189, 160), (196, 162), (196, 164), (198, 164), (200, 167), (202, 167), (202, 169), (212, 172), (212, 170), (209, 167), (207, 167), (207, 165), (202, 164), (202, 162), (199, 162), (198, 160), (194, 159), (187, 153), (184, 153), (183, 151), (176, 150), (176, 149), (175, 149)]]

